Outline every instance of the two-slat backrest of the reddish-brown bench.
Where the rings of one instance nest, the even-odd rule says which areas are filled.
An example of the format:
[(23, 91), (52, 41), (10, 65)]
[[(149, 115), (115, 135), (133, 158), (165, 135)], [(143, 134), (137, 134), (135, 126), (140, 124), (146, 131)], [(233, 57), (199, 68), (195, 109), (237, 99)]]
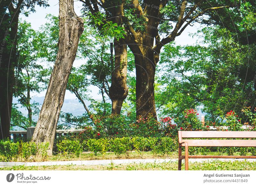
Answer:
[(256, 147), (256, 140), (186, 139), (186, 138), (256, 138), (256, 131), (178, 131), (179, 143), (205, 147)]

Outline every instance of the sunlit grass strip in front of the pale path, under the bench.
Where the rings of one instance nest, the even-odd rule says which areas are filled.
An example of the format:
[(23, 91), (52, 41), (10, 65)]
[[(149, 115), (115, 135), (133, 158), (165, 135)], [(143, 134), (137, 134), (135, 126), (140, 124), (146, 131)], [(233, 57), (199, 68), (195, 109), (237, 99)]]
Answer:
[[(13, 166), (0, 167), (0, 170), (177, 170), (178, 162), (164, 163), (132, 163), (132, 164), (109, 164), (93, 165), (93, 166)], [(182, 165), (184, 170), (184, 163)], [(256, 162), (249, 161), (220, 161), (214, 160), (211, 162), (195, 162), (189, 163), (189, 170), (256, 170)]]

